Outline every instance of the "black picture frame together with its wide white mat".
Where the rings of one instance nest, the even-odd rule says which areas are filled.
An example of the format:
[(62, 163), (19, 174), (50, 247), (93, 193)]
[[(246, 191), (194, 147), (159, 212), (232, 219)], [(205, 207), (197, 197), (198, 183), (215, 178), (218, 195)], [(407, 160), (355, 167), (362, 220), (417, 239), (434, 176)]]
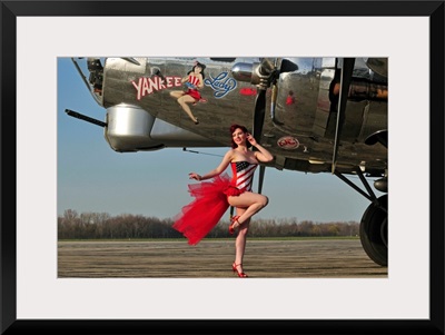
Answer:
[[(1, 334), (444, 334), (444, 1), (2, 1), (1, 21)], [(59, 278), (58, 59), (97, 55), (387, 58), (388, 275)]]

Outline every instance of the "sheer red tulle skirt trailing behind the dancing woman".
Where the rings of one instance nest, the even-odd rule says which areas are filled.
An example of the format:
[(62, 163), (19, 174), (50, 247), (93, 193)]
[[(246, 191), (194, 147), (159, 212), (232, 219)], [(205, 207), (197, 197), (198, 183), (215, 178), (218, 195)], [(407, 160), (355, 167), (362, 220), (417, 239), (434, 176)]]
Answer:
[(195, 200), (182, 207), (172, 227), (187, 237), (189, 245), (196, 245), (229, 208), (227, 196), (239, 196), (244, 190), (231, 186), (227, 174), (217, 176), (211, 181), (191, 184), (188, 188)]

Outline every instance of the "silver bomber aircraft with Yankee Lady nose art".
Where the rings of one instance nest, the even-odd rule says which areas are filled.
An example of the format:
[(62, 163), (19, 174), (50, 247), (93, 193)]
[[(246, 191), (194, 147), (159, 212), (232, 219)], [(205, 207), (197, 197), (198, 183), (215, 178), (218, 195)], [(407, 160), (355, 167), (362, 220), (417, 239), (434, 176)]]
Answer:
[[(230, 147), (230, 125), (249, 126), (274, 155), (260, 166), (258, 191), (266, 167), (340, 178), (369, 200), (360, 242), (373, 262), (387, 266), (387, 58), (71, 60), (106, 114), (98, 120), (66, 112), (102, 127), (112, 150)], [(363, 187), (350, 181), (353, 176)]]

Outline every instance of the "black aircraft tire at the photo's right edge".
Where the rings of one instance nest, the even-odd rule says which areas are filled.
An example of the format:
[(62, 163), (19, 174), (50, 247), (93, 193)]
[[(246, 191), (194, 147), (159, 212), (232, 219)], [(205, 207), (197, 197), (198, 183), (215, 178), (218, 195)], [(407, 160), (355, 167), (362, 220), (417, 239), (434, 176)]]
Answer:
[[(388, 198), (378, 198), (379, 204), (387, 209)], [(360, 223), (360, 242), (365, 253), (380, 266), (388, 265), (388, 214), (380, 207), (370, 204)]]

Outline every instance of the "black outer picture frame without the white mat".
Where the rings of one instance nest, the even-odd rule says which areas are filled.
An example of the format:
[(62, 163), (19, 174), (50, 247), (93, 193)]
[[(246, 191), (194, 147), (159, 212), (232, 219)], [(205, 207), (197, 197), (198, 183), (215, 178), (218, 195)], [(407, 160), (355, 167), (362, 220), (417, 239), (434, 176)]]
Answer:
[[(1, 1), (1, 334), (444, 334), (444, 1)], [(236, 3), (236, 12), (233, 4)], [(255, 3), (255, 6), (253, 6)], [(195, 4), (195, 6), (194, 6)], [(429, 319), (17, 319), (16, 85), (20, 16), (423, 16), (431, 59)], [(286, 9), (286, 10), (284, 10)], [(433, 70), (434, 69), (434, 70)], [(8, 139), (8, 140), (7, 140)], [(408, 164), (409, 166), (411, 164)], [(412, 168), (415, 168), (411, 166)], [(409, 167), (407, 167), (409, 168)], [(415, 176), (413, 176), (415, 178)], [(400, 223), (403, 224), (403, 223)], [(243, 305), (234, 304), (234, 308)]]

